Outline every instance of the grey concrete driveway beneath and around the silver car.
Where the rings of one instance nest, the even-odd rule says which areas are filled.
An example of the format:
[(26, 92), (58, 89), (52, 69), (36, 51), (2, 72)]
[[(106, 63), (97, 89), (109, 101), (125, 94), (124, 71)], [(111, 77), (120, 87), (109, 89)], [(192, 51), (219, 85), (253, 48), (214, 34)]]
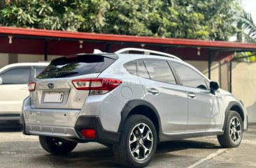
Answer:
[[(256, 167), (256, 125), (244, 133), (239, 148), (220, 148), (216, 137), (201, 137), (159, 144), (148, 167)], [(69, 155), (50, 155), (38, 137), (18, 130), (0, 130), (0, 168), (120, 167), (111, 148), (96, 143), (78, 144)]]

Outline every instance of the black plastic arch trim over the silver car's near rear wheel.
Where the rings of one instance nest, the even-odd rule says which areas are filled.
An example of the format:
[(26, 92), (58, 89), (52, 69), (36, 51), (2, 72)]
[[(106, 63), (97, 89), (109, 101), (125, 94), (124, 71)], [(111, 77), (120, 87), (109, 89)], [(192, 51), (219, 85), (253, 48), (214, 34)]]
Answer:
[(150, 103), (147, 102), (145, 100), (141, 100), (141, 99), (134, 99), (134, 100), (129, 100), (125, 107), (122, 108), (122, 112), (121, 112), (121, 121), (120, 121), (120, 125), (118, 128), (118, 132), (122, 131), (122, 128), (125, 124), (125, 120), (127, 119), (127, 116), (129, 115), (129, 113), (131, 112), (132, 109), (134, 109), (135, 107), (138, 106), (145, 106), (145, 107), (149, 107), (150, 109), (152, 109), (152, 112), (154, 112), (155, 116), (157, 116), (157, 121), (158, 121), (158, 127), (159, 127), (159, 131), (162, 131), (162, 126), (161, 126), (161, 120), (159, 117), (159, 114), (157, 112), (157, 109)]

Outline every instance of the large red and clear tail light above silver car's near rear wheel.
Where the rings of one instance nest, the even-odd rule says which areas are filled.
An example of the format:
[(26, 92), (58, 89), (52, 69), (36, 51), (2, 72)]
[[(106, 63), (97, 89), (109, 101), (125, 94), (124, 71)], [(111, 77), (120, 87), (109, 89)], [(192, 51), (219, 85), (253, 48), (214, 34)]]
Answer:
[(108, 78), (75, 79), (72, 83), (78, 90), (90, 91), (90, 95), (101, 95), (118, 87), (122, 84), (122, 80)]

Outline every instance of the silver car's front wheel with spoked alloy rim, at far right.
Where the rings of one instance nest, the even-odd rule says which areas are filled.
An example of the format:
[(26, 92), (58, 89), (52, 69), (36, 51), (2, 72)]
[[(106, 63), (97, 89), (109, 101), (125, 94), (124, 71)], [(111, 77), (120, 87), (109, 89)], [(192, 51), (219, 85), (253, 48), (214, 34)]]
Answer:
[(243, 138), (243, 121), (235, 111), (229, 111), (225, 123), (224, 134), (218, 135), (218, 142), (225, 148), (236, 148)]

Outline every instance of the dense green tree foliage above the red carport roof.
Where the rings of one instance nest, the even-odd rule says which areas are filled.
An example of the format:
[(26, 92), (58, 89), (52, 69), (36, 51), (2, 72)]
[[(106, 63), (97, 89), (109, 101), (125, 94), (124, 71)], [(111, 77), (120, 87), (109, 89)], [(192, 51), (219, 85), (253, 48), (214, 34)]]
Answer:
[(229, 40), (238, 0), (0, 0), (0, 25)]

